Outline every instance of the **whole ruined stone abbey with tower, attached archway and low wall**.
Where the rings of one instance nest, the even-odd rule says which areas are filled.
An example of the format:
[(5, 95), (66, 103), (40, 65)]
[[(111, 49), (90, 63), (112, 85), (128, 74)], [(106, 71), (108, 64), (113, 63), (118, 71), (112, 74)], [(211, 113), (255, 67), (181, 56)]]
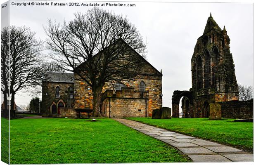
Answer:
[(192, 88), (173, 92), (173, 117), (179, 117), (182, 97), (183, 118), (208, 118), (211, 103), (221, 105), (223, 117), (253, 117), (253, 101), (238, 101), (235, 65), (229, 44), (225, 26), (222, 30), (210, 15), (191, 59)]

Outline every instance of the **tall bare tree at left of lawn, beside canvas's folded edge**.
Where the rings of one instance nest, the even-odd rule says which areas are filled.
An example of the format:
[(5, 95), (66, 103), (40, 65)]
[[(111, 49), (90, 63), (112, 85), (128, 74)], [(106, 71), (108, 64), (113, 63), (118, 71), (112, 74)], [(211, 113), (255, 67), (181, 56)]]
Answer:
[(1, 42), (9, 43), (9, 50), (4, 50), (4, 54), (8, 54), (9, 51), (10, 116), (14, 116), (16, 92), (31, 87), (31, 82), (39, 69), (42, 41), (36, 40), (35, 33), (26, 26), (11, 26), (3, 31), (5, 33), (1, 33)]

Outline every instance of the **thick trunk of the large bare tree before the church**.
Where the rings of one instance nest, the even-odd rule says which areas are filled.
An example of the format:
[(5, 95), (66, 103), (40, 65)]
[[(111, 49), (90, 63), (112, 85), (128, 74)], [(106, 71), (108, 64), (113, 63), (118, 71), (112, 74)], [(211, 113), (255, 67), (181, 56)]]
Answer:
[(93, 95), (92, 117), (102, 117), (102, 115), (100, 114), (101, 90), (102, 90), (102, 87), (96, 87), (95, 90), (92, 89), (92, 95)]

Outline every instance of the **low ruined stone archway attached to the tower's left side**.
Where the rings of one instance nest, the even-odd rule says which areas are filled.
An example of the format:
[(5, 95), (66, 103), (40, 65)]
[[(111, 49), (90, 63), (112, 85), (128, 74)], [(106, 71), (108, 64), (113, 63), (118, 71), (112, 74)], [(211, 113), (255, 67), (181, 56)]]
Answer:
[(190, 104), (193, 104), (193, 96), (192, 96), (192, 92), (190, 91), (179, 91), (179, 90), (175, 90), (173, 92), (173, 96), (172, 96), (172, 108), (173, 108), (173, 118), (179, 118), (180, 116), (180, 99), (185, 96), (189, 99)]

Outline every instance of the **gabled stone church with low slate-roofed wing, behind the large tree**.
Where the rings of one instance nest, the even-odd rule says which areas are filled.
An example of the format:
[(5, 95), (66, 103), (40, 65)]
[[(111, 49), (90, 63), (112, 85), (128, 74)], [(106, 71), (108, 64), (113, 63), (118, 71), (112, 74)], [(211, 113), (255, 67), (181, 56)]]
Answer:
[[(105, 83), (100, 102), (102, 116), (148, 117), (162, 107), (162, 73), (144, 58), (141, 60), (141, 73), (133, 81)], [(76, 117), (79, 111), (92, 111), (92, 103), (91, 87), (78, 80), (78, 75), (47, 72), (43, 80), (43, 116)]]

